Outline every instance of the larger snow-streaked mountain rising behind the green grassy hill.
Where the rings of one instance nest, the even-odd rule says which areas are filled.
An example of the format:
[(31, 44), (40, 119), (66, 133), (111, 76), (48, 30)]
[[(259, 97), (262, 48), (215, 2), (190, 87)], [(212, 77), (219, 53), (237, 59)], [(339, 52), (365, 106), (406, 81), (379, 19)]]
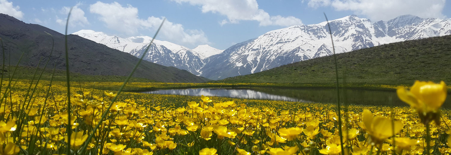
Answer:
[[(451, 19), (419, 18), (413, 15), (379, 22), (350, 15), (329, 23), (336, 53), (451, 35)], [(200, 70), (201, 76), (218, 80), (331, 55), (332, 44), (328, 34), (327, 22), (269, 31), (211, 56)]]

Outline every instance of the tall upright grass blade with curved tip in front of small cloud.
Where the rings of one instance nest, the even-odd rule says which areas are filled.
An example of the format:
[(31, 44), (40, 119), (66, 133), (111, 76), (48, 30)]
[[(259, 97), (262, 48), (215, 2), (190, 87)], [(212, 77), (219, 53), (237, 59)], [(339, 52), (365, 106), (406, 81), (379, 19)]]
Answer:
[(66, 21), (66, 31), (64, 33), (64, 45), (65, 45), (65, 58), (66, 58), (66, 86), (67, 86), (67, 127), (66, 127), (66, 132), (67, 132), (67, 146), (66, 146), (66, 155), (70, 155), (70, 138), (72, 135), (72, 124), (71, 122), (71, 118), (70, 118), (70, 77), (69, 77), (69, 52), (68, 52), (68, 48), (67, 48), (67, 28), (69, 26), (69, 18), (70, 18), (70, 13), (72, 12), (72, 9), (74, 9), (74, 7), (70, 8), (69, 10), (69, 14), (67, 15), (67, 21)]

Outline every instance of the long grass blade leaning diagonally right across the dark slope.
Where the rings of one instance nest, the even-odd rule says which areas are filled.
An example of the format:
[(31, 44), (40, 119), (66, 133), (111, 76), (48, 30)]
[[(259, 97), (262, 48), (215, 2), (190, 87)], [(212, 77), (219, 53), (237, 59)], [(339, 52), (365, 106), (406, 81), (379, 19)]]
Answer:
[(82, 149), (80, 149), (80, 151), (78, 152), (78, 154), (83, 154), (84, 151), (86, 151), (86, 147), (88, 145), (89, 142), (91, 142), (92, 137), (94, 136), (94, 133), (96, 133), (97, 129), (100, 127), (101, 122), (103, 121), (103, 119), (105, 119), (106, 114), (109, 113), (111, 106), (113, 105), (113, 103), (115, 102), (116, 98), (119, 96), (119, 94), (122, 92), (122, 89), (124, 89), (125, 85), (129, 82), (130, 78), (132, 77), (133, 73), (136, 71), (136, 69), (138, 68), (139, 64), (143, 61), (144, 56), (146, 56), (147, 52), (150, 49), (150, 46), (152, 45), (153, 41), (156, 38), (156, 35), (158, 35), (158, 32), (160, 32), (161, 27), (163, 27), (163, 23), (166, 21), (166, 18), (163, 19), (163, 21), (161, 22), (160, 27), (158, 27), (158, 30), (155, 32), (155, 35), (152, 38), (152, 41), (150, 41), (149, 45), (147, 45), (146, 50), (144, 51), (144, 53), (142, 54), (141, 58), (139, 59), (138, 63), (136, 63), (136, 65), (133, 67), (132, 72), (130, 72), (129, 76), (127, 76), (127, 79), (124, 81), (124, 84), (122, 84), (120, 86), (120, 89), (118, 90), (117, 94), (115, 97), (113, 97), (113, 99), (111, 99), (111, 103), (108, 106), (108, 108), (106, 108), (105, 112), (103, 112), (102, 117), (99, 120), (99, 123), (96, 125), (96, 127), (94, 128), (94, 130), (92, 130), (92, 133), (89, 135), (89, 137), (87, 138), (86, 142), (83, 144)]

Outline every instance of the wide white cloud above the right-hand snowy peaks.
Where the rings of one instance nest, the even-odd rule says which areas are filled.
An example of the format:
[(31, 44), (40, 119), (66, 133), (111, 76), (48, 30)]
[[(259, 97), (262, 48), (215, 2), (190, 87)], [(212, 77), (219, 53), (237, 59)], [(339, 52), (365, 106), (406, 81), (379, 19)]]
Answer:
[(352, 11), (367, 16), (372, 21), (390, 20), (405, 14), (445, 18), (442, 14), (445, 0), (308, 0), (308, 6), (331, 6), (337, 11)]

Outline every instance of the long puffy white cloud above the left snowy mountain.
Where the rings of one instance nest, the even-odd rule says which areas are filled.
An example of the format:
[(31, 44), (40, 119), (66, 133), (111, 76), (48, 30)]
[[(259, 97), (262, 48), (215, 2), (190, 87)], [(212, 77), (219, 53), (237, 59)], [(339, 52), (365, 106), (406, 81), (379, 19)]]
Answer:
[[(136, 35), (138, 31), (143, 29), (156, 30), (163, 21), (163, 18), (153, 16), (141, 19), (138, 17), (137, 8), (130, 4), (122, 6), (117, 2), (110, 4), (97, 2), (90, 5), (89, 11), (100, 15), (99, 19), (105, 22), (106, 27), (126, 35)], [(163, 24), (160, 35), (165, 40), (176, 44), (196, 45), (210, 43), (202, 30), (185, 30), (182, 24), (168, 20)]]

